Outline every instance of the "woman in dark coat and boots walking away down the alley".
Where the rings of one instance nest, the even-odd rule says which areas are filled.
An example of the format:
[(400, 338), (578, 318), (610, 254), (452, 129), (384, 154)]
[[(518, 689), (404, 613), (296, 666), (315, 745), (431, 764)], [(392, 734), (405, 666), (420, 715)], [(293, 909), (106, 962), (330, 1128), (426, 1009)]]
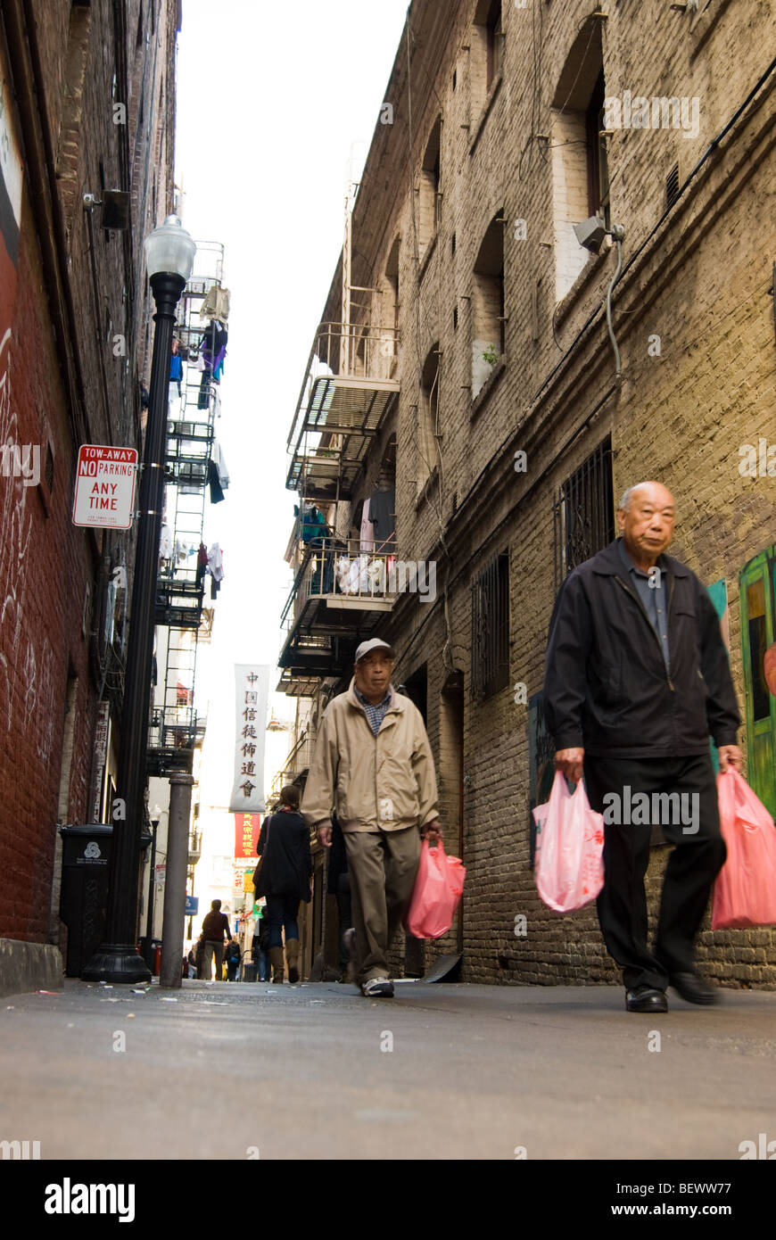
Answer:
[(310, 901), (310, 830), (299, 812), (299, 789), (280, 790), (280, 808), (262, 823), (257, 853), (262, 866), (255, 894), (267, 897), (269, 960), (273, 981), (283, 981), (283, 930), (289, 962), (289, 982), (299, 981), (299, 901)]

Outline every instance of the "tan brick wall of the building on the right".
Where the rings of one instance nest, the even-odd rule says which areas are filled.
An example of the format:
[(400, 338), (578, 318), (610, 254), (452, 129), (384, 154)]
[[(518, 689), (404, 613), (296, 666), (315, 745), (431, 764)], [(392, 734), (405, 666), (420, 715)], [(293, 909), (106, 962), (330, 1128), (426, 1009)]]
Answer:
[[(571, 148), (558, 154), (540, 141), (548, 134), (553, 143), (574, 136), (568, 115), (557, 114), (553, 124), (550, 103), (590, 10), (570, 0), (540, 7), (540, 81), (534, 81), (531, 10), (505, 4), (503, 71), (490, 94), (483, 88), (481, 31), (471, 26), (475, 5), (461, 0), (450, 6), (441, 48), (424, 41), (431, 7), (413, 9), (414, 149), (407, 149), (402, 52), (387, 94), (394, 105), (393, 131), (376, 138), (381, 172), (373, 175), (367, 162), (353, 243), (371, 254), (377, 280), (400, 234), (402, 396), (384, 433), (395, 432), (398, 445), (399, 554), (438, 560), (440, 598), (433, 614), (418, 599), (403, 600), (381, 635), (397, 644), (397, 682), (428, 665), (429, 734), (446, 815), (454, 813), (457, 787), (450, 784), (457, 776), (449, 724), (443, 724), (443, 693), (452, 668), (464, 680), (462, 835), (469, 873), (462, 977), (599, 982), (617, 973), (595, 914), (559, 918), (536, 895), (528, 863), (527, 707), (516, 704), (512, 686), (526, 682), (531, 696), (543, 682), (554, 599), (553, 497), (609, 433), (616, 496), (643, 477), (663, 481), (674, 491), (679, 512), (672, 552), (704, 584), (726, 582), (731, 668), (744, 704), (738, 578), (752, 556), (776, 541), (772, 482), (738, 471), (740, 444), (756, 443), (769, 428), (774, 439), (767, 247), (774, 237), (772, 100), (750, 107), (720, 144), (720, 154), (707, 160), (662, 223), (661, 217), (669, 169), (678, 162), (681, 181), (687, 180), (765, 72), (770, 19), (767, 6), (756, 0), (735, 6), (720, 0), (705, 15), (673, 14), (657, 0), (609, 6), (601, 33), (606, 94), (699, 99), (695, 136), (674, 129), (620, 129), (609, 139), (611, 218), (625, 224), (630, 263), (614, 299), (622, 353), (617, 387), (600, 311), (616, 254), (586, 258), (581, 250), (573, 253), (568, 238), (558, 243), (559, 221), (588, 213), (583, 165), (570, 156)], [(429, 62), (433, 57), (425, 76), (424, 56)], [(440, 103), (444, 216), (430, 258), (419, 264), (412, 195)], [(502, 208), (506, 366), (485, 377), (477, 396), (471, 370), (481, 334), (474, 272), (486, 229)], [(517, 218), (527, 222), (524, 239), (516, 236)], [(371, 283), (369, 273), (363, 277), (359, 283)], [(564, 294), (559, 305), (550, 290)], [(436, 341), (443, 467), (418, 495), (417, 408), (423, 365)], [(527, 474), (513, 469), (517, 449), (528, 453)], [(509, 687), (476, 702), (471, 582), (491, 554), (503, 551), (509, 553)], [(744, 728), (739, 735), (745, 746)], [(655, 848), (647, 884), (652, 920), (664, 859), (666, 849)], [(514, 935), (516, 914), (527, 918), (524, 937)], [(454, 944), (455, 928), (439, 945), (428, 945), (426, 957)], [(776, 935), (770, 930), (705, 930), (699, 960), (709, 976), (730, 985), (776, 985)]]

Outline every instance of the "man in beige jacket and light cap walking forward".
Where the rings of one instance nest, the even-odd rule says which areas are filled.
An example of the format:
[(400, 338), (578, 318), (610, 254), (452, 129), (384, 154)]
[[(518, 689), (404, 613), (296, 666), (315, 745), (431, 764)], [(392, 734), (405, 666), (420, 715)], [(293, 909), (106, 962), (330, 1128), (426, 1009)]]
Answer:
[(431, 746), (420, 712), (397, 693), (392, 647), (356, 651), (353, 680), (321, 723), (301, 811), (331, 847), (331, 815), (345, 836), (355, 924), (355, 980), (389, 998), (387, 956), (415, 884), (420, 837), (441, 837)]

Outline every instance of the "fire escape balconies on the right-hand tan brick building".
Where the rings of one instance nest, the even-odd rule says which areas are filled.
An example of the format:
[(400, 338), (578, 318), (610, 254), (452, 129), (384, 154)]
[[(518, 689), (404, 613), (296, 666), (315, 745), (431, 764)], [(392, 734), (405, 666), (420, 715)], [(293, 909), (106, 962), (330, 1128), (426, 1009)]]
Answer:
[[(353, 294), (376, 290), (351, 281), (351, 217), (356, 186), (346, 202), (342, 249), (342, 321), (322, 322), (312, 341), (305, 379), (288, 438), (286, 487), (298, 492), (299, 516), (286, 559), (294, 583), (281, 615), (284, 644), (279, 692), (311, 697), (324, 677), (343, 676), (357, 644), (393, 608), (390, 565), (395, 556), (342, 537), (364, 461), (399, 394), (394, 378), (398, 329), (372, 324), (371, 305)], [(305, 525), (305, 510), (328, 521)], [(393, 544), (392, 548), (393, 551)]]

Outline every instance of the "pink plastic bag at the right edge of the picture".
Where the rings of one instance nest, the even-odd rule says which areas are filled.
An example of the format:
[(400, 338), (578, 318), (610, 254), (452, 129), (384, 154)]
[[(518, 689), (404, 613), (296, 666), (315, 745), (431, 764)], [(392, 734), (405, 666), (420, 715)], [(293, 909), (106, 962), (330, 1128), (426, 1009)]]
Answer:
[(716, 875), (712, 930), (776, 924), (776, 828), (746, 780), (729, 766), (716, 776), (728, 859)]

